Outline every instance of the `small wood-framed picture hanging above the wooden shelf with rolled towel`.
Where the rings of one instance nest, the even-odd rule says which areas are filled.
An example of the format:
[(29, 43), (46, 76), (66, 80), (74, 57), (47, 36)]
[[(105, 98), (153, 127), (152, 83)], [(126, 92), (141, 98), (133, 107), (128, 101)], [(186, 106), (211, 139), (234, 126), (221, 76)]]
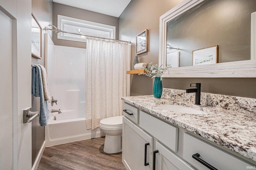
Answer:
[(148, 29), (136, 36), (136, 55), (148, 51)]

